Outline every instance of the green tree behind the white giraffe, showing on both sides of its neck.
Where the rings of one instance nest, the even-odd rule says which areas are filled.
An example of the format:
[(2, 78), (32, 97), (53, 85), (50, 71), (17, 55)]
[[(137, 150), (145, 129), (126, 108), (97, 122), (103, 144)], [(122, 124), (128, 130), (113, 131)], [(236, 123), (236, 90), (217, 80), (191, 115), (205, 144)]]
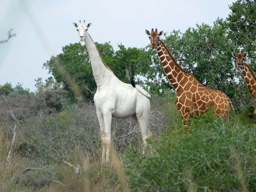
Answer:
[[(125, 48), (122, 44), (119, 45), (119, 50), (114, 51), (110, 42), (103, 44), (95, 43), (97, 49), (103, 59), (103, 61), (109, 66), (114, 74), (123, 82), (128, 82), (126, 79), (125, 69), (133, 61), (138, 63), (139, 66), (143, 63), (143, 50), (137, 48)], [(92, 101), (96, 92), (96, 83), (92, 75), (92, 68), (90, 64), (90, 58), (85, 45), (81, 43), (75, 43), (66, 45), (62, 49), (62, 53), (52, 56), (50, 60), (43, 64), (45, 69), (49, 70), (49, 73), (56, 79), (57, 83), (62, 83), (63, 89), (70, 92), (70, 96), (73, 97), (71, 87), (66, 77), (59, 72), (59, 68), (62, 67), (77, 83), (79, 89), (82, 90), (85, 98)], [(146, 70), (146, 68), (143, 68)], [(136, 71), (139, 74), (141, 71)], [(135, 75), (136, 75), (135, 74)], [(36, 87), (42, 88), (43, 84), (41, 79), (37, 80)]]

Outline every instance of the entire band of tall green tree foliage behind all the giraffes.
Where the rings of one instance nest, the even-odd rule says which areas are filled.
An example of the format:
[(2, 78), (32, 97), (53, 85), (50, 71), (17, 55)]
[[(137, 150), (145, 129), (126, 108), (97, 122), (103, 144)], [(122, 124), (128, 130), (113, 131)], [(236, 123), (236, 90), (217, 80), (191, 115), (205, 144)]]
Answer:
[[(232, 51), (249, 51), (249, 63), (256, 71), (256, 1), (238, 0), (230, 5), (232, 11), (226, 19), (217, 18), (213, 25), (197, 24), (184, 33), (179, 30), (165, 32), (164, 43), (181, 67), (192, 73), (203, 85), (222, 90), (235, 105), (245, 105), (251, 96), (243, 76), (232, 60)], [(146, 38), (146, 36), (145, 36)], [(149, 42), (148, 42), (149, 43)], [(95, 43), (104, 62), (123, 82), (128, 82), (125, 69), (134, 62), (136, 82), (151, 93), (161, 94), (173, 89), (168, 82), (160, 59), (149, 45), (138, 49), (118, 45), (115, 51), (110, 42)], [(62, 53), (52, 56), (44, 68), (71, 92), (69, 82), (59, 68), (69, 73), (84, 96), (92, 101), (96, 83), (92, 75), (90, 58), (85, 45), (66, 45)]]

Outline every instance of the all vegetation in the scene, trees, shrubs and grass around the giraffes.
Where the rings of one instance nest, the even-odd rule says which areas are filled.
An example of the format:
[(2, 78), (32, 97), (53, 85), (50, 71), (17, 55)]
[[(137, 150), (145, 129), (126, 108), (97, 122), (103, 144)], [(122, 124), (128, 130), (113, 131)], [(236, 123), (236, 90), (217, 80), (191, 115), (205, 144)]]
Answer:
[(0, 85), (0, 191), (256, 191), (256, 103), (231, 56), (248, 51), (256, 72), (256, 1), (238, 0), (230, 11), (164, 36), (182, 68), (231, 98), (229, 121), (206, 113), (184, 128), (154, 50), (96, 43), (122, 81), (134, 62), (135, 82), (152, 96), (146, 152), (133, 120), (113, 119), (112, 161), (101, 165), (90, 58), (83, 44), (66, 45), (43, 64), (52, 77), (35, 79), (37, 91)]

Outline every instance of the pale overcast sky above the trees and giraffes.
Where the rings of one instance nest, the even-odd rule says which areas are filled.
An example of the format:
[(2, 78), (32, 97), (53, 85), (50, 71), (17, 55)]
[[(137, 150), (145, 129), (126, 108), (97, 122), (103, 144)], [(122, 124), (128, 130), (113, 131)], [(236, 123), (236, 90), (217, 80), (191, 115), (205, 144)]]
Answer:
[[(0, 40), (13, 28), (17, 35), (0, 44), (0, 85), (36, 90), (34, 79), (50, 77), (43, 63), (79, 42), (72, 22), (92, 23), (88, 32), (98, 43), (110, 41), (115, 50), (145, 47), (145, 29), (185, 32), (196, 24), (226, 19), (232, 0), (1, 0)], [(84, 45), (84, 42), (82, 42)]]

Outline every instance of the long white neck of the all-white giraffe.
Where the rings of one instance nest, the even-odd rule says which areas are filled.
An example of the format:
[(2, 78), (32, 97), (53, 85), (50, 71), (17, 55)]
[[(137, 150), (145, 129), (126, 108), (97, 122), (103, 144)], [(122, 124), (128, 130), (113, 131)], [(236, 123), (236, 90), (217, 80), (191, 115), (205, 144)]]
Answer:
[(87, 47), (87, 51), (90, 57), (91, 67), (92, 67), (92, 74), (94, 76), (95, 82), (97, 87), (103, 84), (104, 80), (110, 75), (111, 70), (108, 66), (103, 62), (98, 49), (92, 40), (89, 33), (87, 33), (84, 37), (84, 43)]

